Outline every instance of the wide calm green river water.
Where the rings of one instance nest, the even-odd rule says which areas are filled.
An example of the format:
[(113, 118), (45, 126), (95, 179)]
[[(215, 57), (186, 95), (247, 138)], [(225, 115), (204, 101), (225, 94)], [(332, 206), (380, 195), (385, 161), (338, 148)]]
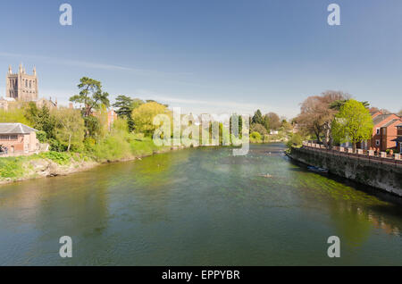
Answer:
[[(399, 198), (306, 171), (282, 150), (187, 149), (3, 186), (0, 265), (402, 264)], [(340, 258), (327, 256), (330, 236)]]

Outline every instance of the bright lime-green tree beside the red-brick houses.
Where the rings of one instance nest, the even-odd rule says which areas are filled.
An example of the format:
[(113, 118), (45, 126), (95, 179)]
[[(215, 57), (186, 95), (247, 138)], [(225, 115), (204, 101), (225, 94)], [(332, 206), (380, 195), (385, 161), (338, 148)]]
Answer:
[(356, 151), (356, 144), (372, 138), (373, 119), (364, 104), (354, 99), (348, 100), (335, 116), (332, 136), (339, 143), (351, 142)]

